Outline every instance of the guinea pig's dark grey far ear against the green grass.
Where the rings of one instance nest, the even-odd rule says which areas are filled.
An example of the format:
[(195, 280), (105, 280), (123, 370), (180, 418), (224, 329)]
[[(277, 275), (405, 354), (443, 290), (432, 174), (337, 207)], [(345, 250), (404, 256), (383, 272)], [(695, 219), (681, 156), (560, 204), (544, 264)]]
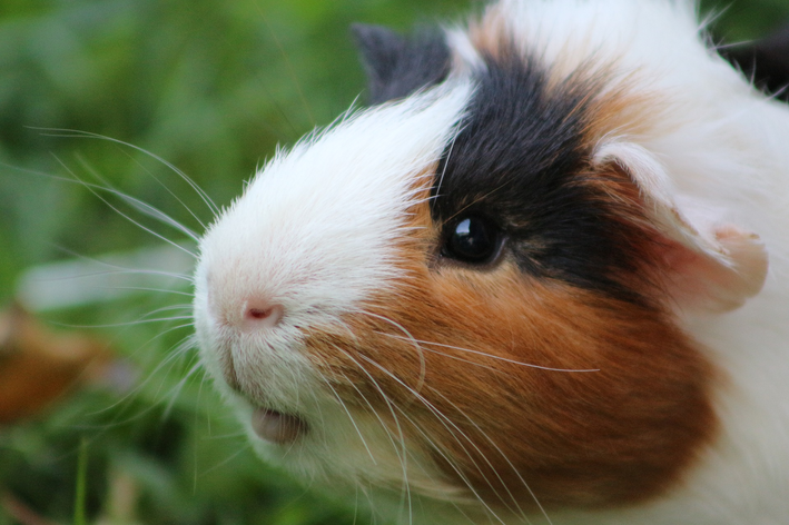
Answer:
[(407, 97), (450, 72), (450, 48), (442, 33), (406, 38), (381, 26), (356, 23), (351, 29), (367, 71), (371, 105)]

